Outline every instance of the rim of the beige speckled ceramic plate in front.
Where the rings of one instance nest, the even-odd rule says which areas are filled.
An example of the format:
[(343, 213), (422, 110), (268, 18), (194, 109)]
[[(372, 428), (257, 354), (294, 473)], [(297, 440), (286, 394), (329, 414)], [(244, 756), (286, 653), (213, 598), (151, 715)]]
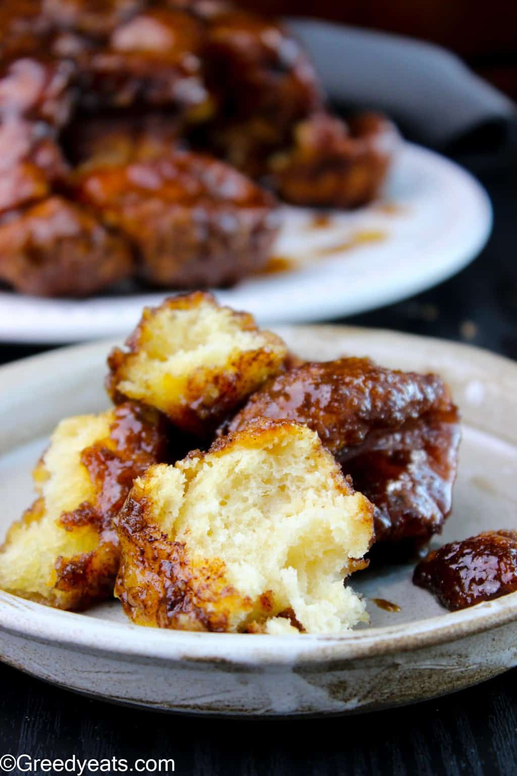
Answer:
[[(487, 368), (504, 366), (517, 380), (517, 363), (512, 359), (483, 348), (456, 341), (421, 337), (417, 334), (388, 329), (350, 326), (289, 326), (278, 331), (311, 331), (318, 335), (323, 330), (336, 336), (366, 335), (367, 337), (395, 337), (416, 345), (422, 342), (439, 345), (445, 350), (460, 350), (475, 355)], [(19, 379), (35, 378), (42, 365), (47, 369), (67, 362), (73, 368), (74, 359), (81, 362), (88, 353), (100, 359), (119, 339), (102, 339), (93, 343), (71, 345), (50, 352), (20, 359), (0, 367), (0, 398), (9, 394)], [(496, 370), (497, 371), (497, 370)], [(108, 402), (107, 402), (108, 403)], [(12, 449), (16, 449), (13, 445)], [(25, 615), (25, 616), (24, 616)], [(419, 650), (425, 646), (453, 642), (517, 620), (517, 592), (486, 601), (457, 612), (445, 612), (399, 625), (359, 629), (340, 636), (308, 635), (270, 636), (258, 634), (222, 634), (168, 631), (127, 623), (109, 622), (75, 612), (56, 610), (33, 601), (26, 601), (0, 591), (0, 631), (9, 632), (34, 641), (65, 646), (88, 652), (110, 653), (121, 659), (140, 658), (167, 663), (224, 663), (228, 666), (298, 665), (335, 663), (369, 656)], [(119, 636), (131, 634), (130, 638)]]

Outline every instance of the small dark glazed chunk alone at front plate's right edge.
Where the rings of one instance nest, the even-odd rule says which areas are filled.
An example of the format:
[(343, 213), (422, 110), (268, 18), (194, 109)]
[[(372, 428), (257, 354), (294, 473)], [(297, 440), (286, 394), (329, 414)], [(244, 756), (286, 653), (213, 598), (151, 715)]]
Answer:
[(434, 550), (415, 568), (413, 582), (450, 611), (517, 590), (517, 532), (486, 531)]

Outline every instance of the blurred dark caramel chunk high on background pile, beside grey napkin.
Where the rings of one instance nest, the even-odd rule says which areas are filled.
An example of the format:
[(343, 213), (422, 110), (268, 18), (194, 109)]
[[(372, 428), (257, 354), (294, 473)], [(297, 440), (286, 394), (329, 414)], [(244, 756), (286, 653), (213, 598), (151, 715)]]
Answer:
[(292, 126), (322, 104), (314, 68), (280, 24), (240, 10), (209, 23), (205, 57), (220, 105), (212, 145), (246, 174), (263, 175)]

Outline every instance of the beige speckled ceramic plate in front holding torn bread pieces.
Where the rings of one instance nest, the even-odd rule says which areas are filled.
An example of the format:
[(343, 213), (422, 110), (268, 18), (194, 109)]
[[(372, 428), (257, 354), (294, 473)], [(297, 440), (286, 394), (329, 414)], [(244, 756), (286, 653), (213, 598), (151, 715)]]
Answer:
[[(460, 404), (464, 439), (453, 514), (439, 542), (515, 528), (517, 365), (387, 331), (278, 331), (305, 358), (370, 355), (389, 366), (440, 372)], [(105, 342), (83, 345), (0, 369), (2, 532), (32, 499), (30, 469), (54, 424), (106, 406), (108, 350)], [(77, 615), (0, 593), (0, 654), (90, 695), (233, 715), (365, 711), (457, 690), (517, 664), (517, 593), (450, 614), (411, 576), (406, 565), (357, 577), (371, 626), (340, 637), (167, 632), (129, 624), (115, 601)], [(377, 608), (373, 598), (400, 611)]]

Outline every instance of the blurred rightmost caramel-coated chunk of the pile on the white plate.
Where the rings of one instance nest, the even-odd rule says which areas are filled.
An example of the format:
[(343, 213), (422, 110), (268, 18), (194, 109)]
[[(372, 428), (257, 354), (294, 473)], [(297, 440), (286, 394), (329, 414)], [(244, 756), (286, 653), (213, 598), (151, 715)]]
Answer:
[(377, 196), (398, 140), (395, 126), (373, 113), (348, 126), (316, 113), (295, 127), (291, 149), (271, 158), (274, 189), (295, 205), (364, 205)]

